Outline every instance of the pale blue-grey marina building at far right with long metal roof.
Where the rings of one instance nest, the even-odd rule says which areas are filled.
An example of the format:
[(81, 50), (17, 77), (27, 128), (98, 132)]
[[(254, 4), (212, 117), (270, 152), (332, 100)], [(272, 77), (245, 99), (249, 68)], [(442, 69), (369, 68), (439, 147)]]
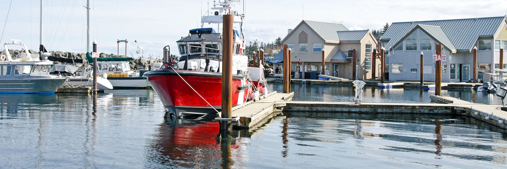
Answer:
[[(473, 78), (473, 50), (477, 48), (478, 79), (499, 69), (500, 49), (507, 49), (505, 16), (433, 21), (395, 22), (380, 42), (386, 49), (386, 79), (390, 81), (420, 79), (435, 81), (436, 45), (442, 44), (442, 82), (470, 82)], [(420, 54), (424, 54), (423, 63)], [(505, 68), (507, 58), (503, 57)], [(379, 66), (380, 67), (380, 66)]]

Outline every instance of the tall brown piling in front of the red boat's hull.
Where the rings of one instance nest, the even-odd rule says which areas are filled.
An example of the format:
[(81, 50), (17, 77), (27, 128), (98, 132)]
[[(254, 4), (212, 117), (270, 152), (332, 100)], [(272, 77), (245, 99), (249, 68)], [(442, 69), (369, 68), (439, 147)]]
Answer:
[[(224, 15), (223, 17), (222, 118), (232, 118), (233, 15)], [(232, 130), (231, 122), (221, 121), (220, 129)]]

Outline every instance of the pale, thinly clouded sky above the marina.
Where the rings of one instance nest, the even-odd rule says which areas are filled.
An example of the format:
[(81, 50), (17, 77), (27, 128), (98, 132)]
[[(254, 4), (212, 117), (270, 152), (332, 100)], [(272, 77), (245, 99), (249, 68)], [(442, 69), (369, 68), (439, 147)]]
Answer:
[[(170, 45), (200, 27), (201, 13), (213, 0), (89, 0), (90, 43), (98, 52), (117, 54), (117, 40), (126, 39), (127, 55), (161, 56)], [(244, 2), (245, 1), (245, 2)], [(507, 15), (507, 1), (323, 1), (241, 0), (233, 7), (245, 12), (246, 41), (273, 42), (303, 19), (342, 23), (349, 30), (380, 29), (387, 22), (495, 17)], [(48, 51), (86, 52), (86, 0), (43, 0), (43, 44)], [(0, 43), (18, 39), (38, 51), (40, 0), (0, 0)], [(9, 12), (8, 12), (9, 11)], [(6, 23), (6, 24), (4, 24)], [(4, 28), (5, 27), (5, 28)], [(208, 26), (205, 26), (208, 27)], [(216, 29), (216, 26), (214, 26)], [(134, 42), (137, 41), (137, 42)], [(0, 47), (3, 49), (4, 47)], [(91, 45), (90, 45), (91, 50)], [(120, 43), (120, 54), (125, 44)]]

